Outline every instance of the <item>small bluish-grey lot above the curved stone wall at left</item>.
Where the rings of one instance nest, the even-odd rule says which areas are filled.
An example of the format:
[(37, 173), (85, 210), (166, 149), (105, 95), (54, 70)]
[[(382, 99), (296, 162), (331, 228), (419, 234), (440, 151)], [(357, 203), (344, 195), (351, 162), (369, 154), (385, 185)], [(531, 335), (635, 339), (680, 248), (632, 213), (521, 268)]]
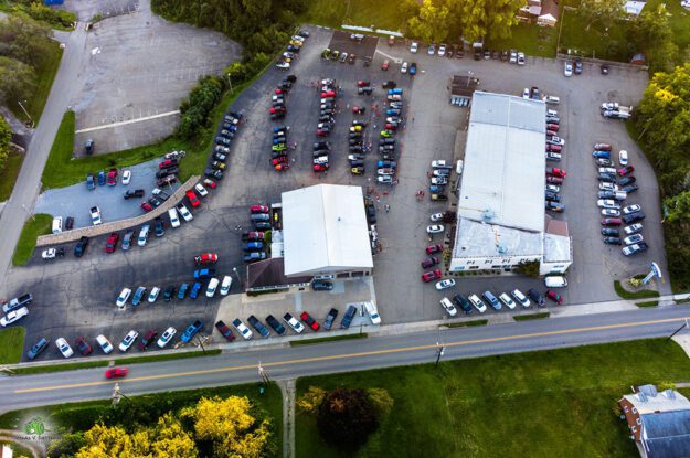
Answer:
[[(184, 159), (182, 159), (184, 160)], [(62, 216), (63, 221), (67, 216), (74, 217), (74, 227), (87, 227), (92, 225), (89, 209), (98, 205), (104, 223), (139, 216), (144, 210), (139, 206), (141, 202), (151, 196), (151, 190), (156, 188), (156, 172), (160, 158), (128, 167), (124, 170), (131, 171), (131, 181), (128, 185), (121, 183), (119, 171), (117, 185), (96, 185), (89, 191), (86, 183), (77, 183), (66, 188), (47, 190), (36, 201), (34, 212), (47, 213), (53, 216)], [(105, 171), (107, 174), (107, 170)], [(97, 172), (94, 171), (94, 177)], [(172, 194), (180, 187), (179, 182), (163, 187), (163, 191)], [(145, 198), (125, 200), (123, 194), (128, 190), (142, 189)]]

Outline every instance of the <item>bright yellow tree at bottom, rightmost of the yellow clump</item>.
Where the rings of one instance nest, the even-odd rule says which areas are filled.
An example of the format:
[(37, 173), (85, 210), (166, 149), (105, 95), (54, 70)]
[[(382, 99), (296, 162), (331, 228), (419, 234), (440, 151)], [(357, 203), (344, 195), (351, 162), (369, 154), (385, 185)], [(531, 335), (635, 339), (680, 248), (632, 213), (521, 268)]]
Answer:
[(212, 444), (213, 456), (258, 458), (266, 451), (270, 425), (252, 416), (251, 408), (246, 397), (202, 397), (180, 415), (193, 424), (198, 440)]

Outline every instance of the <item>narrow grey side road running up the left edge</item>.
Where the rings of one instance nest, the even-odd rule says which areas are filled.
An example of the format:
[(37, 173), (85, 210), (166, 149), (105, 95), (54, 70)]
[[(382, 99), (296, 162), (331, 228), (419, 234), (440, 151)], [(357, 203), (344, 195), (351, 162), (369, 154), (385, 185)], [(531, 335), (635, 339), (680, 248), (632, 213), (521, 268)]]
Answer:
[[(82, 60), (88, 55), (85, 52), (86, 32), (83, 26), (77, 26), (72, 32), (65, 43), (65, 52), (57, 70), (57, 75), (53, 82), (53, 88), (43, 109), (41, 123), (33, 134), (33, 138), (26, 150), (24, 163), (19, 172), (17, 184), (12, 196), (0, 217), (0, 278), (4, 278), (12, 260), (14, 247), (19, 241), (24, 221), (32, 212), (33, 204), (41, 191), (41, 174), (45, 167), (45, 161), (51, 151), (53, 139), (57, 132), (57, 127), (62, 117), (70, 106), (72, 90), (79, 79), (79, 68)], [(0, 296), (6, 294), (0, 285)]]

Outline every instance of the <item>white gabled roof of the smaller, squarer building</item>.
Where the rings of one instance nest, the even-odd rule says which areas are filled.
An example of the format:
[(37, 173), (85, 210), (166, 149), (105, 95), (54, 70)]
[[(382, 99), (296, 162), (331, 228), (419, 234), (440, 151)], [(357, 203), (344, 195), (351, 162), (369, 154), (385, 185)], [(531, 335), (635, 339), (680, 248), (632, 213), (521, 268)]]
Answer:
[(372, 268), (360, 187), (318, 184), (283, 193), (285, 275)]

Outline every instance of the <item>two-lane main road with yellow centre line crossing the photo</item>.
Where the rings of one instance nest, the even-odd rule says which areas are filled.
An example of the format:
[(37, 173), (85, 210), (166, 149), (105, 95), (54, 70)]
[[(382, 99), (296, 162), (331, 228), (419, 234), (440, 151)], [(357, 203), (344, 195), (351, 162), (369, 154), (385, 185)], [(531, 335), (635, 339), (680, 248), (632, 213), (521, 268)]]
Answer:
[[(273, 380), (428, 363), (436, 358), (438, 341), (446, 348), (443, 359), (448, 360), (648, 339), (669, 335), (688, 318), (690, 309), (676, 306), (282, 347), (182, 362), (136, 364), (119, 385), (125, 394), (135, 395), (256, 382), (259, 361)], [(103, 379), (103, 369), (6, 377), (0, 380), (0, 412), (107, 398), (113, 386), (113, 381)]]

